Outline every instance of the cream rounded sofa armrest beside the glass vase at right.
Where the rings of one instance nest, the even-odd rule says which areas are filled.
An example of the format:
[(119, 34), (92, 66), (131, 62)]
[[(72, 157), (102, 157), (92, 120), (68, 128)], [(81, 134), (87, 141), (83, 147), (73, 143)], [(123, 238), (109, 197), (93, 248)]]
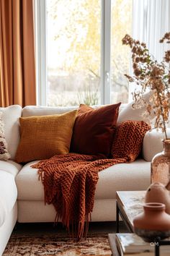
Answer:
[[(167, 136), (170, 138), (170, 128), (166, 129)], [(161, 140), (165, 139), (165, 135), (161, 130), (152, 129), (146, 132), (143, 139), (143, 159), (148, 162), (152, 161), (152, 158), (157, 153), (163, 150), (163, 143)]]

